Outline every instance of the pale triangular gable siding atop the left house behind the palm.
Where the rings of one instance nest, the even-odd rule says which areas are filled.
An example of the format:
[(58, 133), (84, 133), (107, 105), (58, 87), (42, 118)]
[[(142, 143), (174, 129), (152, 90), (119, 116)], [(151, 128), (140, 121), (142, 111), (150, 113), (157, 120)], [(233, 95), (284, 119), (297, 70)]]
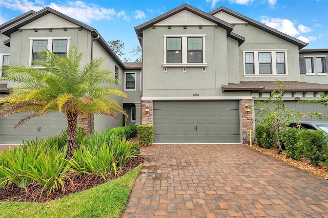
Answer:
[(20, 29), (43, 29), (43, 28), (77, 28), (78, 26), (68, 20), (60, 18), (52, 13), (46, 14), (31, 23), (21, 27)]

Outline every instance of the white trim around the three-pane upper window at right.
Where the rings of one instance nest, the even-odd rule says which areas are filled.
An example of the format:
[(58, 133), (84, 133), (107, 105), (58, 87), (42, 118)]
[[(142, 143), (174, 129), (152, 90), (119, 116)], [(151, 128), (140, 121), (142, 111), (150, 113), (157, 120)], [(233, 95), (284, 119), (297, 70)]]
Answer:
[[(245, 53), (253, 53), (254, 56), (254, 74), (246, 74)], [(259, 53), (271, 53), (271, 74), (260, 74), (259, 72)], [(276, 53), (284, 53), (285, 74), (277, 74)], [(243, 59), (243, 76), (244, 77), (288, 77), (288, 50), (287, 49), (259, 49), (259, 50), (242, 50)]]

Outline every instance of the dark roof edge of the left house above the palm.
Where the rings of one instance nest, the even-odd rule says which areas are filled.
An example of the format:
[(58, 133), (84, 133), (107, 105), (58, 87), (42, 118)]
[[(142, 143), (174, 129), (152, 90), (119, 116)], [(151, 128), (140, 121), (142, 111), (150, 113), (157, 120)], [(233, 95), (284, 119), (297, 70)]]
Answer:
[[(126, 70), (126, 66), (125, 64), (117, 57), (117, 55), (115, 54), (115, 52), (110, 48), (110, 46), (108, 45), (107, 41), (99, 34), (99, 32), (84, 24), (84, 23), (81, 23), (80, 21), (76, 20), (76, 19), (73, 19), (63, 13), (60, 13), (50, 7), (46, 7), (38, 12), (35, 12), (35, 11), (29, 11), (23, 15), (20, 15), (12, 20), (9, 20), (7, 23), (3, 24), (0, 26), (0, 33), (10, 37), (10, 34), (13, 33), (13, 32), (16, 32), (19, 30), (19, 28), (31, 23), (32, 21), (40, 18), (40, 17), (43, 17), (49, 13), (52, 13), (62, 19), (65, 19), (75, 25), (77, 25), (79, 28), (81, 29), (85, 29), (89, 32), (91, 32), (91, 35), (94, 37), (94, 39), (99, 43), (99, 45), (101, 47), (104, 48), (104, 50), (115, 60), (115, 62), (118, 63), (118, 65)], [(10, 44), (10, 39), (6, 40), (5, 41), (5, 45), (9, 45)]]

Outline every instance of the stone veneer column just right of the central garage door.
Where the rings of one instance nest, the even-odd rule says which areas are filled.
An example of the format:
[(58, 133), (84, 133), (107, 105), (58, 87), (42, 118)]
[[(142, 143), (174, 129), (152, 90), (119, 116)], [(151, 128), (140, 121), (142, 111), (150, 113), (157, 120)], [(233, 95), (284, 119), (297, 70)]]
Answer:
[[(245, 110), (245, 105), (248, 104), (250, 111)], [(240, 100), (241, 106), (241, 129), (242, 129), (242, 141), (247, 143), (246, 137), (250, 134), (250, 129), (252, 129), (253, 135), (253, 104), (252, 100)]]

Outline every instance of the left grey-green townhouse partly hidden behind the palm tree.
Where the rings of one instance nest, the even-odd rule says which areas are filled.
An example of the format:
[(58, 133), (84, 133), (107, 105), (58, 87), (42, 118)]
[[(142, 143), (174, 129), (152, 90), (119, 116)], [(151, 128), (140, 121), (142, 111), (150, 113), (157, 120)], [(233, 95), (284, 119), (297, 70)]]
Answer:
[[(3, 42), (0, 45), (1, 66), (19, 62), (38, 67), (32, 63), (38, 57), (37, 52), (48, 48), (58, 55), (66, 55), (71, 45), (76, 45), (78, 51), (83, 53), (83, 65), (92, 58), (105, 57), (106, 62), (102, 67), (113, 72), (112, 76), (121, 82), (119, 86), (115, 86), (119, 90), (126, 90), (129, 95), (128, 98), (116, 99), (125, 108), (129, 118), (120, 115), (119, 122), (116, 122), (109, 116), (80, 116), (79, 125), (90, 129), (90, 123), (94, 123), (94, 130), (100, 132), (105, 128), (140, 123), (141, 65), (126, 66), (97, 30), (47, 7), (38, 12), (29, 11), (0, 25), (0, 31)], [(16, 85), (18, 84), (0, 81), (0, 97), (9, 93), (10, 88)], [(33, 118), (14, 129), (14, 124), (22, 116), (16, 114), (0, 119), (0, 144), (21, 143), (23, 139), (52, 136), (67, 127), (65, 115), (56, 113)]]

